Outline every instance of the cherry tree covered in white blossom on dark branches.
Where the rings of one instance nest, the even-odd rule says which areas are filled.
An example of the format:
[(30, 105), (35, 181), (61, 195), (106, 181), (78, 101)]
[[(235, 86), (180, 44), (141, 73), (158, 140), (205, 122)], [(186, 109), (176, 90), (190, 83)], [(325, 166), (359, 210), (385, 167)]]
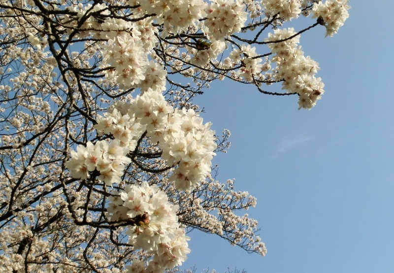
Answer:
[[(212, 159), (193, 98), (213, 80), (324, 93), (300, 35), (346, 0), (0, 0), (1, 272), (174, 271), (187, 232), (265, 255), (256, 205)], [(310, 26), (283, 24), (299, 16)], [(268, 92), (265, 86), (275, 85)]]

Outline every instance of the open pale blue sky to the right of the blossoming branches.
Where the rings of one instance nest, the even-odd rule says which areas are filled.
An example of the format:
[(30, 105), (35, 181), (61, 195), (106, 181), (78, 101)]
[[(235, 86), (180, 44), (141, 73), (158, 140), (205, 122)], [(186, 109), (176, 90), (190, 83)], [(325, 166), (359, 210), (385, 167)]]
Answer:
[(214, 161), (218, 178), (257, 197), (248, 213), (268, 252), (247, 254), (196, 231), (182, 269), (394, 272), (394, 1), (349, 4), (334, 37), (321, 26), (301, 35), (326, 84), (312, 110), (231, 81), (195, 100), (204, 122), (231, 132), (228, 154)]

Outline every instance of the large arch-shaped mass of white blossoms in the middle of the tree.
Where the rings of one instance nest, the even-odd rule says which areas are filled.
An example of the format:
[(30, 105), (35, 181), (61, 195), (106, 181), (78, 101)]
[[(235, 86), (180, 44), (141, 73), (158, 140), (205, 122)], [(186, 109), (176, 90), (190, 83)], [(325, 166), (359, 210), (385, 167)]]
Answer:
[(193, 109), (173, 109), (161, 93), (148, 90), (130, 102), (113, 104), (98, 116), (94, 126), (98, 135), (112, 134), (115, 139), (109, 144), (104, 140), (95, 145), (88, 142), (86, 148), (78, 145), (67, 168), (74, 178), (84, 179), (88, 171), (97, 169), (107, 185), (118, 183), (124, 164), (131, 162), (126, 155), (146, 131), (151, 142), (162, 149), (167, 166), (178, 166), (169, 181), (180, 190), (191, 190), (211, 171), (216, 142), (210, 126), (203, 124)]

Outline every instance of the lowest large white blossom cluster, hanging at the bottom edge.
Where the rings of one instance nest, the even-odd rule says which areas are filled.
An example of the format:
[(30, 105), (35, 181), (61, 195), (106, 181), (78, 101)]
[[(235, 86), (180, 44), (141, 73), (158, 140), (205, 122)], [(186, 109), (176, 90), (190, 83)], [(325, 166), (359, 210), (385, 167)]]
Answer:
[(190, 253), (185, 230), (179, 227), (177, 205), (171, 205), (164, 191), (147, 182), (126, 186), (120, 194), (112, 191), (107, 216), (111, 221), (136, 219), (126, 234), (134, 249), (143, 249), (153, 259), (145, 262), (134, 259), (129, 273), (161, 273), (181, 265)]

